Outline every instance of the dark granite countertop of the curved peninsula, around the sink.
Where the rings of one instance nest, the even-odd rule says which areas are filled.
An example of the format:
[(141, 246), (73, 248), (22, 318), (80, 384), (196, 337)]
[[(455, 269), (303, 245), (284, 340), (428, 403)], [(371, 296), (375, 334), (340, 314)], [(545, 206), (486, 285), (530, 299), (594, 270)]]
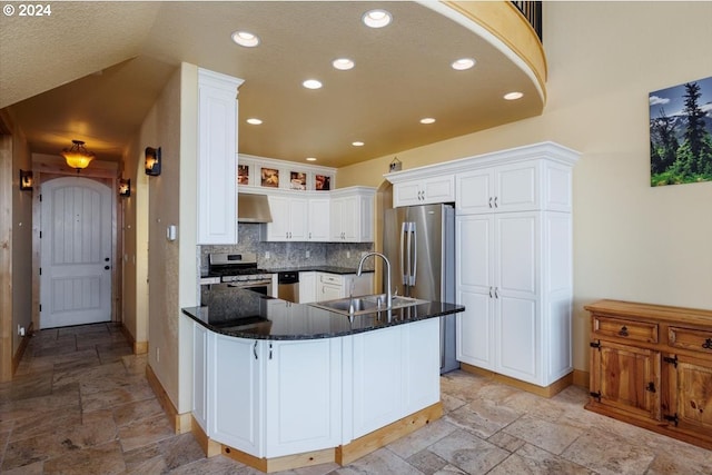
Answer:
[(211, 331), (253, 339), (334, 338), (463, 311), (465, 307), (428, 301), (411, 307), (348, 317), (335, 311), (293, 304), (250, 290), (230, 289), (202, 307), (182, 313)]

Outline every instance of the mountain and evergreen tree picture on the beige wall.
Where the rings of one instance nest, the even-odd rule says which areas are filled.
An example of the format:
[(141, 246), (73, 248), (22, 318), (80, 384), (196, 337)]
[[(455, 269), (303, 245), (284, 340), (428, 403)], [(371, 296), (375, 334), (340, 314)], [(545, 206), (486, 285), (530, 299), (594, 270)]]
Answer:
[(651, 92), (651, 186), (712, 181), (712, 77)]

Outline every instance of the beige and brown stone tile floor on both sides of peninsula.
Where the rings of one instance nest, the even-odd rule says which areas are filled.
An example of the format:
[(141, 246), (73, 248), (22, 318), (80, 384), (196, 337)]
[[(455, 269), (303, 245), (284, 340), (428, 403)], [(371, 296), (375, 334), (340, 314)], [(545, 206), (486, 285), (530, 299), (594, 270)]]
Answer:
[[(205, 458), (175, 435), (115, 325), (36, 333), (0, 384), (0, 473), (258, 474)], [(454, 372), (445, 416), (346, 467), (283, 474), (712, 474), (712, 452), (583, 409), (586, 392), (544, 399)]]

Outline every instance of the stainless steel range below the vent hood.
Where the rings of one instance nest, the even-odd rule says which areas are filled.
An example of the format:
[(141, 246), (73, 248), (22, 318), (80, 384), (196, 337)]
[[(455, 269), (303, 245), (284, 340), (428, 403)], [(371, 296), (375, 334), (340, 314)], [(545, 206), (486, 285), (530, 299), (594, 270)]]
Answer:
[[(257, 267), (257, 255), (254, 253), (241, 254), (210, 254), (208, 274), (202, 276), (202, 299), (206, 294), (225, 290), (225, 288), (244, 288), (263, 295), (275, 296), (273, 277), (270, 273)], [(216, 285), (219, 286), (216, 288)]]

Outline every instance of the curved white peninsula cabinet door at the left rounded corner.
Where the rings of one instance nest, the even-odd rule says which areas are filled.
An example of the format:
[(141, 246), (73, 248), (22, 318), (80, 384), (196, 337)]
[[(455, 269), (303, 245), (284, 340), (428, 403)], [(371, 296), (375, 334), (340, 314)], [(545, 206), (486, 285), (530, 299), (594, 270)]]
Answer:
[(208, 436), (261, 457), (261, 359), (265, 342), (209, 334)]

